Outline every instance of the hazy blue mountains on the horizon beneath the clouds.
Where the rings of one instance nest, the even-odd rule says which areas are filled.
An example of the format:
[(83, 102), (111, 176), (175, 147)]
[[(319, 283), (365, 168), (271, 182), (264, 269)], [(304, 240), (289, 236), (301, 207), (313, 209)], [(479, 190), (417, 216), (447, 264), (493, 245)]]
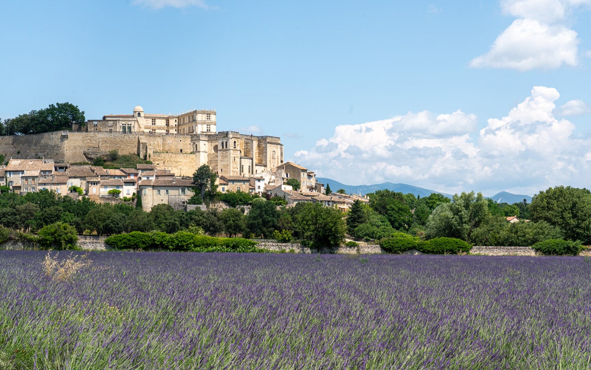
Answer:
[[(421, 197), (428, 197), (432, 193), (439, 193), (439, 194), (445, 195), (447, 198), (452, 198), (452, 195), (450, 195), (450, 194), (446, 194), (446, 193), (442, 193), (442, 192), (434, 191), (434, 190), (429, 190), (429, 189), (425, 189), (425, 188), (419, 188), (418, 186), (413, 186), (413, 185), (408, 185), (408, 184), (394, 184), (392, 182), (384, 182), (383, 184), (375, 184), (375, 185), (345, 185), (345, 184), (342, 184), (341, 182), (335, 181), (333, 179), (323, 178), (323, 177), (316, 178), (316, 181), (324, 184), (325, 188), (326, 188), (326, 185), (329, 184), (330, 190), (332, 190), (333, 192), (336, 192), (339, 189), (345, 189), (347, 194), (365, 195), (368, 193), (375, 192), (376, 190), (388, 189), (391, 191), (401, 192), (402, 194), (414, 194), (415, 196), (420, 195)], [(497, 203), (505, 202), (508, 204), (514, 204), (514, 203), (522, 202), (523, 199), (526, 199), (528, 203), (531, 203), (531, 197), (529, 195), (516, 195), (516, 194), (511, 194), (506, 191), (498, 192), (497, 194), (493, 195), (492, 197), (487, 197), (487, 198), (491, 198), (493, 201), (495, 201)]]

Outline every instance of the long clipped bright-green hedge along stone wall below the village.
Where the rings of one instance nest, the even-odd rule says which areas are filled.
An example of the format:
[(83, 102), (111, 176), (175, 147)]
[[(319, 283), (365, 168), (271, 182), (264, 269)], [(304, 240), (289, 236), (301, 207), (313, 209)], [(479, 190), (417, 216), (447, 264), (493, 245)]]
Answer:
[(105, 244), (119, 250), (170, 250), (193, 252), (267, 252), (257, 248), (255, 241), (244, 238), (216, 238), (195, 235), (188, 231), (166, 234), (160, 231), (112, 235)]

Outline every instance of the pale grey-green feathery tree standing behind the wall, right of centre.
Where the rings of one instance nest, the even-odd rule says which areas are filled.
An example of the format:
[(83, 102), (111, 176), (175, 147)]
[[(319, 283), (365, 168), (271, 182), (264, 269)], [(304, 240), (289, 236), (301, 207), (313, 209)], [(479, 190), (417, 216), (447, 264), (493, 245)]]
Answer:
[(472, 231), (491, 217), (488, 201), (474, 192), (454, 195), (451, 203), (441, 204), (427, 220), (427, 238), (449, 237), (470, 241)]

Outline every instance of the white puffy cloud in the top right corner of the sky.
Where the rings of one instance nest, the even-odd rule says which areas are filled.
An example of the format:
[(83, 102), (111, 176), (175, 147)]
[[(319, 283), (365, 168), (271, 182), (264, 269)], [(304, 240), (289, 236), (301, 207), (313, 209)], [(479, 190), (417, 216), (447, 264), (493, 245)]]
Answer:
[(591, 0), (504, 0), (501, 8), (518, 17), (493, 42), (491, 50), (470, 67), (528, 71), (578, 64), (577, 32), (563, 23), (578, 6)]

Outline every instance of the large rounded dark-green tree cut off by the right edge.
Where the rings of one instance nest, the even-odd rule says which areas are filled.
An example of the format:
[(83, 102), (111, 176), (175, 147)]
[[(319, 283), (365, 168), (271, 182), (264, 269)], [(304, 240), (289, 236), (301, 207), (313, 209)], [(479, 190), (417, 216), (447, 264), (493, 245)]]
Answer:
[(530, 204), (531, 218), (560, 227), (568, 240), (591, 243), (591, 192), (556, 186), (540, 191)]

